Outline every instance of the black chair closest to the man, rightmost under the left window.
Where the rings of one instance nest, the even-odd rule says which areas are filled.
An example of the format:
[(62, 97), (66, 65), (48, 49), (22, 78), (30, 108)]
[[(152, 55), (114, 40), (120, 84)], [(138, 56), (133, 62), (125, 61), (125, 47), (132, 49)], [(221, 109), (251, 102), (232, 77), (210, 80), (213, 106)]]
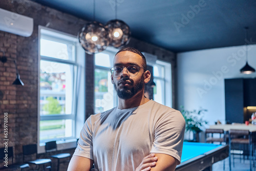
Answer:
[[(53, 155), (51, 155), (51, 157), (58, 160), (57, 170), (59, 170), (60, 163), (64, 163), (66, 161), (69, 162), (70, 159), (71, 159), (71, 155), (69, 153), (59, 153), (59, 154), (57, 154), (56, 141), (46, 142), (45, 149), (46, 149), (46, 153), (53, 153)], [(68, 160), (67, 160), (67, 158), (68, 158)]]

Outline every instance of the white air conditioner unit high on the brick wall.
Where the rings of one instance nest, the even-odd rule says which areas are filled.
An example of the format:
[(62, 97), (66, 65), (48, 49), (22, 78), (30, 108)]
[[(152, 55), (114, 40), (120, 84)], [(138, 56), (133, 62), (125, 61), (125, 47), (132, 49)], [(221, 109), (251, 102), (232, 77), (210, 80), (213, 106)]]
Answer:
[(0, 30), (29, 37), (33, 32), (33, 18), (0, 8)]

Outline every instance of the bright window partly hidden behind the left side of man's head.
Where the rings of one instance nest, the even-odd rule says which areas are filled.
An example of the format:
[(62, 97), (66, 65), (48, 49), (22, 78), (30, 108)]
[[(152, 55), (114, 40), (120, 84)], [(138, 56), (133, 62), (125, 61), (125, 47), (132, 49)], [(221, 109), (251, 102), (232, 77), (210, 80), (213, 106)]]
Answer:
[(117, 105), (117, 95), (111, 83), (110, 68), (117, 50), (110, 49), (95, 54), (95, 113), (112, 109)]

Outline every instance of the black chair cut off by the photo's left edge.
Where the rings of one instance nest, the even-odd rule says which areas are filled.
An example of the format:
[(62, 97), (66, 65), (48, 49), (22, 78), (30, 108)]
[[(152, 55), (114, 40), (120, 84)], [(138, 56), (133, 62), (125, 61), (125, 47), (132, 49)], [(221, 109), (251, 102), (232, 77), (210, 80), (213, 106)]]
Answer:
[[(7, 151), (8, 152), (7, 152)], [(6, 149), (5, 147), (4, 148), (0, 148), (0, 161), (5, 161), (5, 157), (6, 157), (6, 154), (8, 154), (8, 159), (11, 159), (11, 163), (9, 163), (9, 160), (8, 160), (8, 167), (4, 166), (4, 167), (1, 167), (0, 170), (2, 169), (10, 169), (10, 170), (15, 170), (15, 169), (18, 169), (18, 170), (26, 170), (27, 168), (29, 168), (29, 164), (27, 163), (23, 163), (23, 164), (13, 164), (13, 147), (12, 146), (9, 146), (8, 149)]]

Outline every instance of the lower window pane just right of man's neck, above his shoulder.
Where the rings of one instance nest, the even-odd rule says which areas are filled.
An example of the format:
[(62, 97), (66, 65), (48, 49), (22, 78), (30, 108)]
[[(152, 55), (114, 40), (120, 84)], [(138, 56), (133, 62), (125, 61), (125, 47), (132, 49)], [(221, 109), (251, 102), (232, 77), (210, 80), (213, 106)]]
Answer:
[(158, 103), (165, 105), (164, 100), (164, 81), (159, 79), (154, 79), (156, 86), (154, 87), (154, 100)]

